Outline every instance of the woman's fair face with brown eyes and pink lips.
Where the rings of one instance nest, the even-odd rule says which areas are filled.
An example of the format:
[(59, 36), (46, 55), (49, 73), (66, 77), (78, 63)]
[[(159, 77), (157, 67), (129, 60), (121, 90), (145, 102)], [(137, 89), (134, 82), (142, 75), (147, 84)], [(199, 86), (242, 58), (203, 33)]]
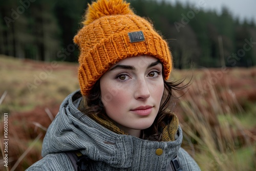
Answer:
[(127, 57), (100, 78), (106, 114), (126, 133), (139, 137), (159, 111), (164, 91), (161, 62), (151, 56)]

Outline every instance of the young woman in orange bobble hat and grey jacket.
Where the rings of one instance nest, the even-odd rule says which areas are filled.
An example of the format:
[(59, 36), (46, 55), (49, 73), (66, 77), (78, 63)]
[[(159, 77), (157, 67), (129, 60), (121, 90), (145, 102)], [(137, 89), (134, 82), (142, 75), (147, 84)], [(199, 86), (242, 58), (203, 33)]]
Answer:
[(122, 0), (98, 0), (74, 42), (80, 90), (62, 102), (28, 170), (200, 170), (180, 147), (172, 55), (153, 25)]

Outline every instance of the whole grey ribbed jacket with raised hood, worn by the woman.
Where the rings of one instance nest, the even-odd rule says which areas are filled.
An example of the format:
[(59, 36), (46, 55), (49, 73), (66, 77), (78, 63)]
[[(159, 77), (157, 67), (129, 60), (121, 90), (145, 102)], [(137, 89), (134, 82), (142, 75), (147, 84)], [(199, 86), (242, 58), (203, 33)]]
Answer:
[[(91, 159), (90, 170), (171, 170), (177, 155), (182, 170), (200, 170), (181, 148), (182, 130), (175, 141), (147, 141), (119, 135), (106, 129), (77, 107), (81, 94), (76, 91), (60, 105), (59, 113), (48, 128), (42, 144), (42, 159), (27, 170), (75, 170), (66, 152), (79, 150)], [(163, 153), (156, 154), (161, 148)]]

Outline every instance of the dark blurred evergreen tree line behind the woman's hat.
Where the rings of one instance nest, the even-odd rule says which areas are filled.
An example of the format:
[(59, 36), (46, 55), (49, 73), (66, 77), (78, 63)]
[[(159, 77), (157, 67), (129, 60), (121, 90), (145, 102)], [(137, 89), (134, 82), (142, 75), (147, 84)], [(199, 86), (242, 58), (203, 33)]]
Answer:
[[(136, 14), (150, 18), (168, 41), (175, 67), (251, 67), (256, 65), (253, 19), (234, 18), (198, 4), (130, 0)], [(0, 54), (34, 60), (77, 61), (73, 37), (91, 1), (9, 0), (0, 2)]]

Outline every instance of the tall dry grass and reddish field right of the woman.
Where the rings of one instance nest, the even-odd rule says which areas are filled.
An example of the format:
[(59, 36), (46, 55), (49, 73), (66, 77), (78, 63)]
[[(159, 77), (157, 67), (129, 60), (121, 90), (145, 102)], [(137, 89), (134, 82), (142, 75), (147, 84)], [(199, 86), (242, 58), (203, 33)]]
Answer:
[(229, 69), (214, 82), (218, 70), (209, 69), (179, 99), (183, 145), (202, 170), (255, 170), (256, 124), (242, 122), (255, 118), (255, 71)]

